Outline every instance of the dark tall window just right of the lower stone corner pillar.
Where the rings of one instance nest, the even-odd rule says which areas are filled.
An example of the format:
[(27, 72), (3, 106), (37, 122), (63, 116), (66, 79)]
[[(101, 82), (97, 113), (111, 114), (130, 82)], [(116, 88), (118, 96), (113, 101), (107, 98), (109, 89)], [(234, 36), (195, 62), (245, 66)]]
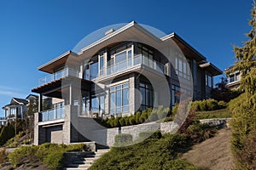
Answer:
[(152, 85), (147, 82), (140, 82), (139, 90), (142, 94), (142, 105), (140, 110), (144, 111), (148, 108), (153, 108), (154, 105), (154, 90)]

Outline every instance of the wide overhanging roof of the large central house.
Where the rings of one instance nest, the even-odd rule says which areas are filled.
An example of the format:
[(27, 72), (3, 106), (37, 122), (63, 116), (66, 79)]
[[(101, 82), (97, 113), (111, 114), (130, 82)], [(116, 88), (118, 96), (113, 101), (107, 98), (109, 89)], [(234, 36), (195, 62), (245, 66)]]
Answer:
[[(55, 66), (58, 65), (65, 65), (67, 62), (72, 62), (71, 64), (76, 64), (82, 61), (83, 59), (88, 59), (96, 52), (102, 48), (108, 47), (109, 45), (113, 44), (114, 42), (121, 42), (121, 41), (132, 41), (134, 37), (137, 38), (137, 41), (142, 40), (142, 42), (168, 42), (169, 40), (173, 40), (177, 43), (177, 46), (182, 50), (183, 54), (188, 58), (195, 59), (199, 64), (205, 63), (206, 57), (204, 57), (201, 53), (199, 53), (195, 48), (189, 45), (188, 42), (185, 42), (183, 38), (179, 37), (177, 33), (172, 32), (165, 37), (156, 37), (150, 31), (145, 29), (143, 26), (140, 26), (135, 21), (128, 23), (127, 25), (119, 28), (116, 31), (112, 31), (108, 33), (105, 37), (100, 38), (96, 42), (92, 42), (89, 45), (85, 46), (81, 49), (81, 51), (76, 54), (72, 51), (67, 51), (64, 54), (61, 54), (55, 59), (52, 59), (48, 63), (41, 65), (38, 67), (38, 70), (45, 71), (49, 73), (53, 73)], [(215, 65), (210, 64), (207, 68), (209, 71), (213, 71), (212, 74), (218, 75), (222, 74)]]

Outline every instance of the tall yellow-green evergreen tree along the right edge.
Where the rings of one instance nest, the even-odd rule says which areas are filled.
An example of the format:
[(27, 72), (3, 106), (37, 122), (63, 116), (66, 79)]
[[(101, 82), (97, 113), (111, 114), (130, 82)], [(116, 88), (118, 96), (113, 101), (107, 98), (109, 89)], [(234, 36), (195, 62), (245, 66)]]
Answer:
[[(236, 158), (236, 169), (251, 169), (255, 167), (255, 161), (250, 160), (251, 143), (248, 141), (250, 136), (254, 136), (256, 130), (256, 4), (254, 2), (251, 11), (252, 19), (249, 26), (251, 31), (247, 33), (249, 38), (243, 42), (243, 47), (234, 47), (236, 54), (236, 65), (232, 71), (241, 72), (241, 90), (244, 94), (232, 103), (236, 103), (231, 109), (233, 118), (232, 125), (232, 149)], [(252, 137), (254, 138), (254, 137)]]

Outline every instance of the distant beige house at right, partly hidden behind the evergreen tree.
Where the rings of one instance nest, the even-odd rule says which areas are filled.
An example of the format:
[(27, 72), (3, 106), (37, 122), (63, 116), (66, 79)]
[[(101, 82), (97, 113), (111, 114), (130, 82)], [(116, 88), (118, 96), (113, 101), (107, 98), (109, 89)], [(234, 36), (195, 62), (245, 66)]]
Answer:
[(226, 87), (230, 90), (234, 90), (239, 88), (241, 83), (241, 74), (240, 71), (232, 71), (231, 69), (233, 66), (225, 69), (226, 77), (227, 77), (227, 84)]

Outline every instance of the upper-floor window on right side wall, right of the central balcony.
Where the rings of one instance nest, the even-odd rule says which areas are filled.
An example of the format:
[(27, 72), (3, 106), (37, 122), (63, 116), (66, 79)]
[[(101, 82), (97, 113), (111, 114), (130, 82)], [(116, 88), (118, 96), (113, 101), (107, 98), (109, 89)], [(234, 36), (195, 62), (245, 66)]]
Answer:
[(187, 80), (190, 80), (190, 75), (189, 75), (189, 61), (183, 60), (181, 58), (175, 58), (175, 71), (177, 76), (183, 77)]

